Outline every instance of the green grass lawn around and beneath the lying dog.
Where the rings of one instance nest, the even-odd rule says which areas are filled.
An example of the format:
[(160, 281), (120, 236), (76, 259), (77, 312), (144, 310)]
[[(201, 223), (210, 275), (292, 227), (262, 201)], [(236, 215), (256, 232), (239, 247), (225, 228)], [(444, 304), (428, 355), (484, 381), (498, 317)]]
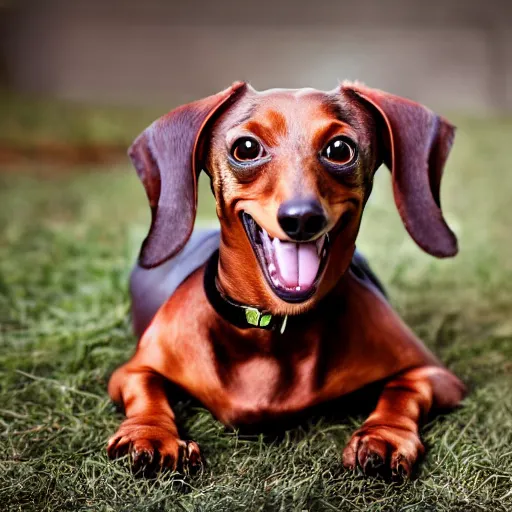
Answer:
[[(127, 279), (149, 220), (129, 168), (0, 174), (0, 503), (4, 510), (511, 510), (512, 121), (460, 120), (443, 188), (460, 255), (410, 241), (382, 169), (360, 248), (393, 303), (470, 388), (423, 430), (428, 454), (402, 485), (345, 472), (362, 416), (311, 421), (281, 441), (178, 415), (205, 451), (193, 479), (134, 477), (105, 443), (121, 415), (110, 373), (132, 353)], [(133, 134), (132, 134), (133, 135)], [(202, 187), (201, 218), (213, 202)]]

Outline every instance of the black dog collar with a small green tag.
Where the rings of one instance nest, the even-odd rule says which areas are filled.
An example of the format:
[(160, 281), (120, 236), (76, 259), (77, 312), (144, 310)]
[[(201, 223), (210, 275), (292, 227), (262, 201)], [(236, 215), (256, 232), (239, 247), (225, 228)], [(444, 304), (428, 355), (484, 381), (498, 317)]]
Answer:
[(279, 331), (281, 334), (286, 329), (288, 315), (279, 316), (237, 302), (224, 293), (217, 286), (217, 269), (219, 265), (219, 251), (216, 250), (206, 263), (204, 271), (204, 291), (213, 309), (225, 320), (241, 329), (260, 328), (267, 331)]

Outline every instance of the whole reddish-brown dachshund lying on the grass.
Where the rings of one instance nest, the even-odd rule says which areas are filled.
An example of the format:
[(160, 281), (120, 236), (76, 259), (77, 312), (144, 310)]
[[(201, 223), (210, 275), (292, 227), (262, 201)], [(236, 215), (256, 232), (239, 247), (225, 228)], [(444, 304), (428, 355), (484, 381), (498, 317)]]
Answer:
[[(464, 386), (390, 307), (355, 240), (384, 162), (412, 238), (437, 257), (457, 252), (439, 204), (453, 134), (425, 107), (357, 83), (331, 92), (235, 83), (146, 129), (130, 149), (152, 211), (132, 276), (143, 334), (110, 380), (127, 419), (109, 455), (199, 463), (197, 444), (178, 435), (169, 381), (228, 425), (280, 422), (382, 382), (343, 462), (410, 475), (420, 423), (456, 406)], [(191, 247), (201, 170), (220, 239), (192, 237)]]

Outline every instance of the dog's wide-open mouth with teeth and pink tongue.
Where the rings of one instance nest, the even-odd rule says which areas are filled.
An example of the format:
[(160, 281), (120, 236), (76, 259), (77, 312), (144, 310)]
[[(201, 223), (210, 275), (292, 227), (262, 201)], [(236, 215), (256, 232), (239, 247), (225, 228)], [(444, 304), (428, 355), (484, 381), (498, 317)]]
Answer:
[(309, 299), (328, 259), (328, 233), (310, 242), (284, 241), (271, 237), (248, 213), (242, 212), (241, 218), (272, 291), (286, 302)]

